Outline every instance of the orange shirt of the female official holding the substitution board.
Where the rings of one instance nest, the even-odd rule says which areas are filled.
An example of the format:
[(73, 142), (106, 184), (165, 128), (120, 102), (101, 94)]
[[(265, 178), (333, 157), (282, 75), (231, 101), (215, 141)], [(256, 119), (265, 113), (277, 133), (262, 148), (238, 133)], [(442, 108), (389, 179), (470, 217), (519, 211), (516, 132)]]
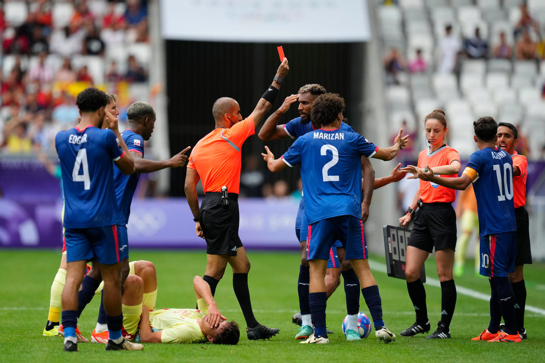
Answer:
[[(420, 151), (418, 155), (418, 167), (430, 168), (440, 167), (442, 165), (450, 165), (453, 161), (460, 161), (458, 151), (452, 147), (444, 145), (439, 147), (431, 154), (429, 149)], [(436, 174), (437, 175), (437, 174)], [(455, 178), (458, 175), (438, 175), (445, 178)], [(456, 199), (456, 190), (440, 186), (429, 181), (420, 180), (420, 199), (425, 203), (452, 203)]]

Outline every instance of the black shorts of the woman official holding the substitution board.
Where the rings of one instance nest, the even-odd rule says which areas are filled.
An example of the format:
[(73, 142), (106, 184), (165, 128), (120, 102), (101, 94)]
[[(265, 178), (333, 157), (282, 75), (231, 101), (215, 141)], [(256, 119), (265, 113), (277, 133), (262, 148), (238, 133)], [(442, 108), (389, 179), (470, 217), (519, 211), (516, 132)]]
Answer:
[(450, 203), (423, 203), (414, 216), (407, 245), (432, 253), (456, 249), (456, 212)]

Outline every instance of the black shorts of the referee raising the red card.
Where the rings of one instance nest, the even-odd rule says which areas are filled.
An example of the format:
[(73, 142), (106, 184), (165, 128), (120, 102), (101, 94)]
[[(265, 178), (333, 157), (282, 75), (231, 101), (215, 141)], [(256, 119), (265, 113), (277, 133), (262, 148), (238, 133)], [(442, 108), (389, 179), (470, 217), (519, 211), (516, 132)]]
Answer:
[(208, 255), (237, 256), (243, 247), (238, 235), (238, 194), (228, 193), (229, 205), (223, 205), (221, 193), (207, 192), (199, 211), (199, 222), (206, 240)]

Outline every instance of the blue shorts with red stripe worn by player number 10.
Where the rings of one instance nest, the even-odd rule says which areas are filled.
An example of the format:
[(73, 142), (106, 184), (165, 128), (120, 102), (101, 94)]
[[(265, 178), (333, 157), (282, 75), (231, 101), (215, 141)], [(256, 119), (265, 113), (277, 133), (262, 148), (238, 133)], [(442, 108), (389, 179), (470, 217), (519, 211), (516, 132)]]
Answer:
[(517, 254), (517, 232), (504, 232), (481, 237), (480, 274), (490, 277), (506, 277), (514, 272)]

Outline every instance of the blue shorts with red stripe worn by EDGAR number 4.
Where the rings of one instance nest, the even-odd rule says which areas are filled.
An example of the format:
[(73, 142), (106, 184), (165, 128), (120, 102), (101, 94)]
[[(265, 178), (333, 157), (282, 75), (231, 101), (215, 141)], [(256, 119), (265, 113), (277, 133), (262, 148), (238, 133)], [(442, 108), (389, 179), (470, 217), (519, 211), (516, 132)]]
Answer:
[(118, 263), (122, 249), (116, 226), (66, 228), (66, 262), (96, 259), (102, 264)]

